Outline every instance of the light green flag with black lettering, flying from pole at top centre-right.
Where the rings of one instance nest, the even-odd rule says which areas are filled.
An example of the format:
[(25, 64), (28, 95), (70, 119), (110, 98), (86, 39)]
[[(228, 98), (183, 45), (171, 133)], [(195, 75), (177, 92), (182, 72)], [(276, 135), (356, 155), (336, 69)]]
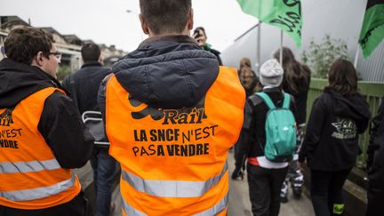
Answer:
[(237, 0), (243, 12), (262, 22), (281, 28), (301, 46), (300, 0)]

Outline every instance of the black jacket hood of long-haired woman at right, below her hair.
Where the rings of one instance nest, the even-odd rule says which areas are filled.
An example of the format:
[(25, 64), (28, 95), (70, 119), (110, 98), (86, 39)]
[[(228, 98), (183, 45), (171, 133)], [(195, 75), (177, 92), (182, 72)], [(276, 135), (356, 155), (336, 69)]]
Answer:
[(332, 98), (336, 99), (333, 108), (337, 116), (351, 117), (356, 120), (371, 117), (369, 105), (361, 94), (343, 96), (339, 92), (329, 89), (325, 89), (324, 92), (331, 94)]

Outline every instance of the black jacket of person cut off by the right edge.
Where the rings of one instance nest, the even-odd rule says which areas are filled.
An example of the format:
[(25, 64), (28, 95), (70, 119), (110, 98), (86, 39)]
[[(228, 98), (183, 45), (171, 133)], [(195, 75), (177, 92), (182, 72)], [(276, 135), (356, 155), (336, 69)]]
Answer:
[[(383, 99), (384, 100), (384, 99)], [(370, 188), (384, 190), (384, 102), (381, 101), (378, 115), (372, 120), (370, 144), (368, 145), (367, 168)]]

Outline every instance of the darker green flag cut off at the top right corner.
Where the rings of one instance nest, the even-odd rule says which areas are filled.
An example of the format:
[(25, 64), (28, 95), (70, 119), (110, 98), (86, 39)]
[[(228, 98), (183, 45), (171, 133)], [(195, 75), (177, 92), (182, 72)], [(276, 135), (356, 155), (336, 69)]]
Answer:
[(384, 38), (384, 0), (368, 0), (359, 44), (364, 58), (371, 55)]

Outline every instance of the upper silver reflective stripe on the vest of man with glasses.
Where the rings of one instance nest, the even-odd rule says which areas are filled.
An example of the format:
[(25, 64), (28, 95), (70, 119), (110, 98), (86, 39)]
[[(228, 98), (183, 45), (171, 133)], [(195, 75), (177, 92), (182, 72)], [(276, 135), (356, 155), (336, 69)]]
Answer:
[(3, 162), (0, 163), (0, 173), (39, 172), (43, 170), (59, 169), (60, 164), (56, 159), (29, 162)]

